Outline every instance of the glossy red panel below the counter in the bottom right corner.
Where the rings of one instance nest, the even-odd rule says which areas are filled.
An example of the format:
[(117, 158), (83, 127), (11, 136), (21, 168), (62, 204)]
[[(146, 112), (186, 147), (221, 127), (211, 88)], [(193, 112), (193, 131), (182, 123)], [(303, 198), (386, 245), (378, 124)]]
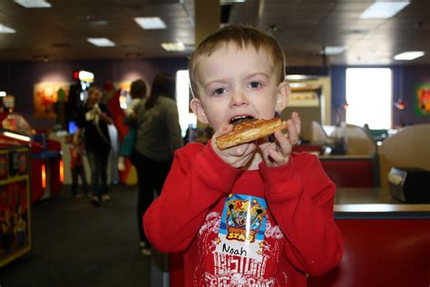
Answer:
[(309, 287), (428, 286), (430, 219), (337, 220), (344, 257)]

